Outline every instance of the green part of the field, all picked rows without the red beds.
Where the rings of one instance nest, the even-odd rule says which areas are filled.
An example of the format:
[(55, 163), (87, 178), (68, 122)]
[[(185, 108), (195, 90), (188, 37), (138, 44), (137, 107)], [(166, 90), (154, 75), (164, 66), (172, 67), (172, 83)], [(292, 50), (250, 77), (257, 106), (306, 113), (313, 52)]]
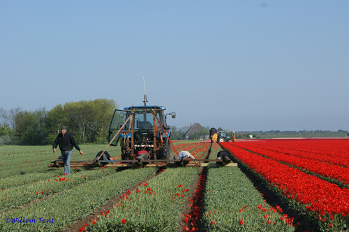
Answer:
[[(84, 155), (73, 150), (72, 160), (92, 160), (105, 148), (80, 147)], [(219, 150), (215, 144), (211, 158)], [(119, 147), (107, 151), (119, 157)], [(202, 168), (72, 168), (63, 176), (64, 168), (47, 168), (58, 156), (51, 146), (0, 146), (1, 231), (294, 230), (281, 213), (260, 210), (272, 206), (237, 167), (205, 175)]]

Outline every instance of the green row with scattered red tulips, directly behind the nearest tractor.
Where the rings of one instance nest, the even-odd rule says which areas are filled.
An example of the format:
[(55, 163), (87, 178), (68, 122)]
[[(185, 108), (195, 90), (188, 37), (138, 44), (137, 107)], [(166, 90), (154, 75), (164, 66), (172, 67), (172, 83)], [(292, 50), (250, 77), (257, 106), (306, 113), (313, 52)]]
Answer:
[(179, 213), (197, 174), (197, 168), (166, 169), (80, 231), (177, 231)]

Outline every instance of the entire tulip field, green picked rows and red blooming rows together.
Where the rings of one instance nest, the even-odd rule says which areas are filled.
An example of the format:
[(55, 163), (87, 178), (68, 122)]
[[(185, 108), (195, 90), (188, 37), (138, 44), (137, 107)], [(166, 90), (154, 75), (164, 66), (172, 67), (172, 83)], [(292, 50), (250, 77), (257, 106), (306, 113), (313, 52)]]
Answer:
[[(238, 167), (51, 169), (50, 146), (0, 146), (1, 231), (348, 231), (349, 140), (175, 141)], [(72, 160), (92, 160), (82, 145)], [(119, 147), (108, 153), (119, 160)], [(117, 155), (118, 154), (118, 155)], [(172, 155), (174, 155), (172, 147)], [(193, 161), (191, 161), (193, 162)]]

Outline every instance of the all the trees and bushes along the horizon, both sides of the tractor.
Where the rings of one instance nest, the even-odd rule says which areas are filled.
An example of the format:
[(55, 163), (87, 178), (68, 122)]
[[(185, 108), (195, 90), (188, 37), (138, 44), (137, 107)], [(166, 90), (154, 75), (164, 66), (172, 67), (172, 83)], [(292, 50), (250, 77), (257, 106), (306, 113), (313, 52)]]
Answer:
[[(117, 103), (114, 100), (96, 99), (80, 102), (68, 102), (57, 105), (51, 110), (45, 108), (35, 111), (22, 110), (20, 107), (6, 111), (0, 107), (0, 145), (47, 145), (52, 144), (59, 134), (61, 125), (66, 125), (79, 144), (108, 142), (108, 129)], [(209, 134), (210, 127), (202, 127), (189, 139)], [(189, 126), (177, 128), (171, 126), (171, 139), (182, 140)], [(264, 139), (277, 137), (345, 137), (347, 130), (332, 132), (328, 130), (301, 131), (252, 131), (235, 132), (237, 139), (250, 137)]]

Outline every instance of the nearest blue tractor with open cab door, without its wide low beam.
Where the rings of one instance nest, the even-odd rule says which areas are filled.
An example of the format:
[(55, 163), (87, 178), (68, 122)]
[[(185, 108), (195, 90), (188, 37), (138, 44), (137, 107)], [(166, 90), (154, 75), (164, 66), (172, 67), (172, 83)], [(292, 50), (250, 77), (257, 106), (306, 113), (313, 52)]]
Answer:
[[(109, 142), (121, 146), (121, 160), (135, 160), (146, 151), (149, 160), (171, 159), (171, 130), (166, 123), (165, 107), (156, 105), (125, 107), (115, 110), (109, 128)], [(172, 112), (172, 118), (176, 114)]]

